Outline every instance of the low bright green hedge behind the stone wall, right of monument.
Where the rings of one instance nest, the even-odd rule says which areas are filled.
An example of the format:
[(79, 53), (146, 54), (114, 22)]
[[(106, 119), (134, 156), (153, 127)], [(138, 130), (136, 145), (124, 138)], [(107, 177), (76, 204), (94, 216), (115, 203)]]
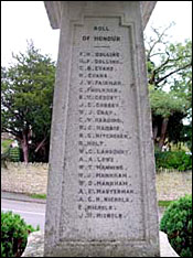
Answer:
[(175, 169), (179, 171), (192, 170), (192, 155), (185, 151), (156, 152), (156, 165), (158, 169)]

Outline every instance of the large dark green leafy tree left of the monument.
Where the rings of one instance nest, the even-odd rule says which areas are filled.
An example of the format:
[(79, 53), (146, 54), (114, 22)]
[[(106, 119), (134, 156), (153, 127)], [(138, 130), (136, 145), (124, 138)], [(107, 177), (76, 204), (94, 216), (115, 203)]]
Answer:
[(15, 137), (29, 162), (30, 150), (40, 152), (49, 142), (55, 64), (32, 42), (13, 58), (17, 64), (1, 67), (1, 131)]

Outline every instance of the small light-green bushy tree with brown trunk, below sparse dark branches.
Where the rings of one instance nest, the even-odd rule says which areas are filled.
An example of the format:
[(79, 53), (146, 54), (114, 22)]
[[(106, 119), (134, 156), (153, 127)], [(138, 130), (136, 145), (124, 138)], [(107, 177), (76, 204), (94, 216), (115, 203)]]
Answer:
[(174, 92), (150, 87), (154, 143), (161, 150), (167, 137), (176, 143), (182, 140), (183, 118), (186, 117), (186, 100)]

